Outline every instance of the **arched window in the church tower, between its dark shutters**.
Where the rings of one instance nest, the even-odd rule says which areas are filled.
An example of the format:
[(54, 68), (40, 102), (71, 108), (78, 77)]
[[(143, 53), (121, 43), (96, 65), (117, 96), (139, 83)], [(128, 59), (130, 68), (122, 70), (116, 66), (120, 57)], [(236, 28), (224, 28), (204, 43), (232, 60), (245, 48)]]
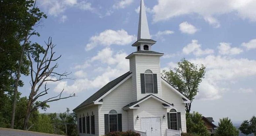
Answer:
[(145, 92), (154, 93), (153, 73), (149, 69), (145, 71)]

